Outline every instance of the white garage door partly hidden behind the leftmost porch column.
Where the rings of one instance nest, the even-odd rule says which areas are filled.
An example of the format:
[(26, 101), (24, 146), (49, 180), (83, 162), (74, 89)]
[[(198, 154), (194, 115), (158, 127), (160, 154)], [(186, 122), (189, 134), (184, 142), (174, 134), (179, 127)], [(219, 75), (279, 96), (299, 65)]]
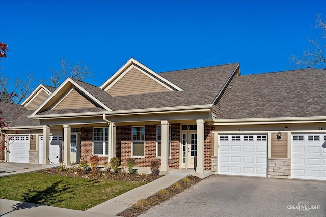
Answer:
[[(39, 137), (39, 164), (43, 162), (43, 136)], [(50, 161), (53, 164), (59, 164), (61, 161), (60, 149), (62, 136), (50, 136)]]

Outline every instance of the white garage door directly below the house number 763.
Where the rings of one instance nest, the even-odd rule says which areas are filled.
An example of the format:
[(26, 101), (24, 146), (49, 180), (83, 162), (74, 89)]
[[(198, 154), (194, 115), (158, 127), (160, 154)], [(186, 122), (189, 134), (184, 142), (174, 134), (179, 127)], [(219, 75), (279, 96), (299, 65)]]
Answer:
[(267, 176), (267, 135), (220, 135), (219, 174)]

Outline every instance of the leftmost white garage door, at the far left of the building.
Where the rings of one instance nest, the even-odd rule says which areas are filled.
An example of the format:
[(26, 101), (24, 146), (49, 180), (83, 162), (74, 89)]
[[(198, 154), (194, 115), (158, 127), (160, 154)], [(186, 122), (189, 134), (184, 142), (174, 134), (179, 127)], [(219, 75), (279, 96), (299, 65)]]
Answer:
[(9, 144), (9, 162), (29, 163), (29, 136), (12, 136)]

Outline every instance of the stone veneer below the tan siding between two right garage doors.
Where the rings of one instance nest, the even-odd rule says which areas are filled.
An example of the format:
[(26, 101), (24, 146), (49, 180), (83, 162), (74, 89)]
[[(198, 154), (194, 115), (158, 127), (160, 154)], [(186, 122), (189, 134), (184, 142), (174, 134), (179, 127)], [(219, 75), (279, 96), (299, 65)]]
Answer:
[(268, 159), (268, 177), (270, 178), (289, 178), (291, 175), (290, 158), (269, 158)]

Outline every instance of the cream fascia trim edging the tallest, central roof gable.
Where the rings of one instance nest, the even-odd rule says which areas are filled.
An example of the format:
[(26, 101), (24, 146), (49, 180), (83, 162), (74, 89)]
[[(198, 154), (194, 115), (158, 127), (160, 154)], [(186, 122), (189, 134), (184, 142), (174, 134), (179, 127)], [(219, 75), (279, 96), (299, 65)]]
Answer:
[[(159, 74), (155, 73), (153, 70), (149, 69), (144, 64), (141, 64), (139, 61), (130, 58), (127, 63), (125, 63), (116, 73), (114, 73), (111, 78), (109, 78), (104, 84), (100, 86), (101, 89), (107, 91), (110, 87), (119, 81), (128, 71), (131, 69), (131, 65), (137, 68), (139, 71), (144, 73), (146, 76), (154, 79), (159, 84), (163, 85), (164, 87), (168, 88), (169, 90), (177, 90), (183, 91), (182, 88), (178, 87), (171, 81), (165, 79), (164, 77), (160, 76)], [(126, 72), (127, 71), (127, 72)], [(149, 76), (151, 75), (151, 76)]]

